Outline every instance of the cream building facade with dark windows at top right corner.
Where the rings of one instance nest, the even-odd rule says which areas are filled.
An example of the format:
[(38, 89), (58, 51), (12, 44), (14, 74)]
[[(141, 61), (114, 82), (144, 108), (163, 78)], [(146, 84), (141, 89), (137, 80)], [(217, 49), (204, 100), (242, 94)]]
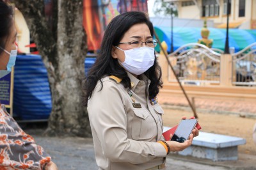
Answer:
[(256, 0), (165, 0), (177, 6), (180, 19), (209, 19), (214, 27), (225, 28), (227, 15), (229, 27), (240, 29), (256, 29)]

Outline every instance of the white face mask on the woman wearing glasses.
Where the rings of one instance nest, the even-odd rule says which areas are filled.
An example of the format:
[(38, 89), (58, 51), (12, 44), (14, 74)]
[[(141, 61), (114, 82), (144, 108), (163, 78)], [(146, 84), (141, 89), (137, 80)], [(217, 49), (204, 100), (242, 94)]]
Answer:
[[(119, 47), (116, 48), (120, 49)], [(130, 73), (140, 75), (154, 65), (155, 49), (152, 47), (138, 47), (122, 51), (124, 51), (125, 60), (124, 63), (120, 63)]]

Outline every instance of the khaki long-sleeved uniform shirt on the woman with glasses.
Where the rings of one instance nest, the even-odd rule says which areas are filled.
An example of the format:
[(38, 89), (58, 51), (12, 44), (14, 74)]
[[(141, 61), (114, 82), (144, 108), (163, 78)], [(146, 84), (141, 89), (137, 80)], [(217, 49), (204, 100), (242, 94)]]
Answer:
[[(110, 77), (102, 79), (88, 100), (88, 113), (92, 128), (95, 157), (99, 169), (139, 170), (161, 165), (166, 150), (156, 143), (163, 140), (163, 109), (151, 105), (146, 97), (147, 77), (136, 79), (128, 73), (132, 98), (122, 84)], [(101, 89), (102, 88), (102, 89)]]

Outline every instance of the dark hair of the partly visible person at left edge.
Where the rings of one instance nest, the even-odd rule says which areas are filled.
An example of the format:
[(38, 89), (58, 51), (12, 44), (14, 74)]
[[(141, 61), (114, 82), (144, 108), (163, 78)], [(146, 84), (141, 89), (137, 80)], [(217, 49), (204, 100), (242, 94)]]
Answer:
[[(3, 0), (0, 0), (0, 47), (5, 48), (5, 43), (10, 36), (10, 28), (13, 24), (12, 6), (8, 6)], [(0, 54), (3, 49), (0, 48)]]

